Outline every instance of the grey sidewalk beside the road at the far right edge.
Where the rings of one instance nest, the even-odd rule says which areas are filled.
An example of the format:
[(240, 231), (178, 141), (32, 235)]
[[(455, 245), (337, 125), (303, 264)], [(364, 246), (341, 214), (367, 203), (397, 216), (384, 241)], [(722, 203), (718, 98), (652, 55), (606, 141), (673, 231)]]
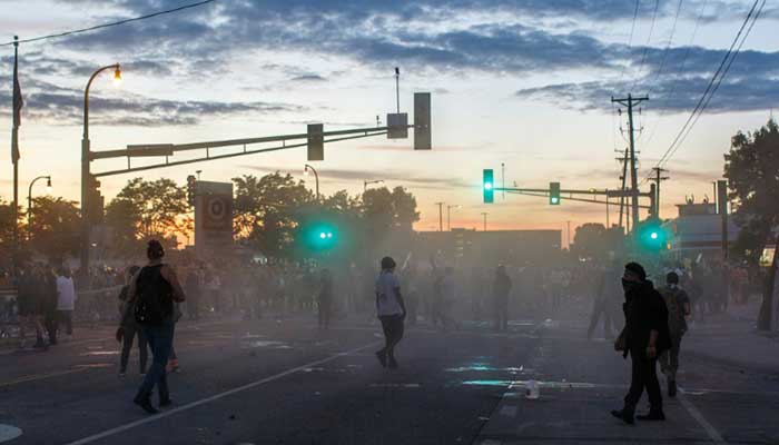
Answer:
[(682, 340), (682, 354), (779, 372), (779, 336), (757, 330), (759, 307), (759, 298), (752, 298), (743, 306), (731, 305), (727, 314), (696, 322)]

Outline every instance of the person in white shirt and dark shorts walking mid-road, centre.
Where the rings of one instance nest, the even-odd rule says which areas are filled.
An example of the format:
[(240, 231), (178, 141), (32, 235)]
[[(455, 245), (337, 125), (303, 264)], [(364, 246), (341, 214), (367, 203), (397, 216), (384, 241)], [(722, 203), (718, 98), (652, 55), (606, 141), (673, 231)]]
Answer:
[(395, 346), (403, 338), (403, 322), (406, 307), (401, 295), (401, 283), (395, 276), (395, 260), (382, 258), (382, 273), (376, 278), (376, 315), (382, 322), (385, 346), (376, 352), (378, 363), (384, 367), (397, 369)]

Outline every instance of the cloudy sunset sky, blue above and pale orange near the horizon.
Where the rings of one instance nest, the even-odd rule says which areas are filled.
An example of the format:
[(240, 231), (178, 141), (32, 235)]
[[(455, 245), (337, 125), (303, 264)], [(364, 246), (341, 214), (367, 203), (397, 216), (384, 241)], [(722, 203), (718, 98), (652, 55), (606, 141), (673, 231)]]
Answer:
[[(175, 8), (193, 0), (0, 0), (0, 43)], [(638, 4), (638, 7), (637, 7)], [(10, 7), (12, 6), (12, 8)], [(93, 150), (371, 127), (413, 93), (432, 93), (433, 150), (413, 139), (336, 142), (316, 162), (321, 190), (356, 195), (364, 180), (417, 197), (420, 230), (452, 227), (560, 229), (607, 222), (603, 205), (551, 207), (544, 198), (497, 194), (482, 204), (481, 171), (505, 184), (619, 188), (625, 110), (611, 97), (649, 96), (635, 113), (639, 177), (648, 175), (690, 116), (749, 12), (742, 0), (217, 0), (204, 7), (20, 47), (26, 106), (20, 196), (51, 175), (55, 195), (78, 200), (83, 88), (95, 69), (119, 62), (124, 82), (96, 79)], [(635, 17), (635, 20), (633, 18)], [(712, 197), (722, 155), (739, 130), (765, 125), (779, 103), (779, 9), (768, 2), (706, 113), (668, 161), (661, 216), (687, 196)], [(12, 47), (0, 47), (0, 196), (11, 197)], [(413, 119), (413, 118), (412, 118)], [(622, 130), (621, 130), (622, 129)], [(6, 147), (6, 148), (2, 148)], [(250, 148), (250, 147), (249, 147)], [(213, 154), (229, 152), (230, 148)], [(190, 155), (186, 155), (190, 156)], [(181, 156), (180, 158), (185, 158)], [(136, 160), (142, 165), (152, 160)], [(305, 148), (101, 179), (110, 199), (128, 179), (184, 184), (279, 170), (305, 179)], [(92, 171), (126, 160), (92, 164)], [(45, 192), (43, 184), (33, 194)], [(37, 186), (38, 187), (38, 186)], [(643, 185), (648, 191), (648, 185)], [(609, 222), (619, 217), (610, 207)], [(444, 208), (444, 226), (446, 209)]]

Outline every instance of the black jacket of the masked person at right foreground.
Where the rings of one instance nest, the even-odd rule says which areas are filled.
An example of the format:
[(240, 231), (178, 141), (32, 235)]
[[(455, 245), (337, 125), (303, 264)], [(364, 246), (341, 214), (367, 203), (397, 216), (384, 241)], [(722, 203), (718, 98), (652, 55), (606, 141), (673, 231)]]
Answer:
[(651, 330), (658, 332), (658, 355), (671, 347), (665, 300), (654, 289), (652, 281), (645, 280), (630, 289), (622, 310), (625, 317), (625, 355), (629, 350), (643, 353), (649, 346)]

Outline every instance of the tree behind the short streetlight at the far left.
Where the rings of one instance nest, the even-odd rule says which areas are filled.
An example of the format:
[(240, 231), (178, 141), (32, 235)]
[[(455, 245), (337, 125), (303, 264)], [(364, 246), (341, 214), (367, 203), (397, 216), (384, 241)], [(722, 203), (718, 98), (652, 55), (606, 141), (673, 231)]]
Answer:
[(41, 196), (32, 199), (30, 245), (47, 258), (63, 258), (79, 253), (80, 212), (76, 201)]

